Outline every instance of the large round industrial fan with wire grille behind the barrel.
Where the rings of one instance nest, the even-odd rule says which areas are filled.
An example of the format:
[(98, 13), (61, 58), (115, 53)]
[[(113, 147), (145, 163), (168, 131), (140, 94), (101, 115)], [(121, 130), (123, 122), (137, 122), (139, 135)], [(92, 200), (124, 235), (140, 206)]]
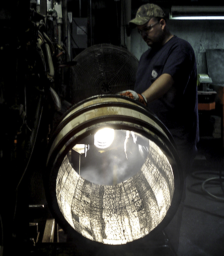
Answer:
[(97, 94), (116, 94), (134, 88), (139, 61), (123, 47), (93, 45), (74, 61), (70, 79), (73, 103)]

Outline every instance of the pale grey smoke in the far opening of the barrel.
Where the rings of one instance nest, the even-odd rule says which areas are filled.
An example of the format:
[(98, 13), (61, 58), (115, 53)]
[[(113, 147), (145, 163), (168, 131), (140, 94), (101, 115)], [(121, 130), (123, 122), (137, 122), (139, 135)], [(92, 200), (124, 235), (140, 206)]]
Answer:
[[(144, 138), (144, 141), (149, 146), (149, 140)], [(80, 175), (95, 184), (115, 185), (137, 174), (147, 155), (147, 148), (138, 144), (133, 132), (116, 130), (115, 140), (108, 149), (90, 145), (86, 157), (81, 155)]]

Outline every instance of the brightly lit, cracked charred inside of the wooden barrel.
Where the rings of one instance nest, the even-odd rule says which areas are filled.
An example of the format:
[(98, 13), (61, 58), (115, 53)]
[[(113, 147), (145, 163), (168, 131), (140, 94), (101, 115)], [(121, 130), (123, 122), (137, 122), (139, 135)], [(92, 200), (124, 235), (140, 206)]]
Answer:
[(126, 244), (163, 220), (174, 176), (154, 142), (115, 130), (107, 148), (97, 148), (93, 135), (75, 144), (58, 171), (56, 191), (63, 216), (77, 232), (103, 244)]

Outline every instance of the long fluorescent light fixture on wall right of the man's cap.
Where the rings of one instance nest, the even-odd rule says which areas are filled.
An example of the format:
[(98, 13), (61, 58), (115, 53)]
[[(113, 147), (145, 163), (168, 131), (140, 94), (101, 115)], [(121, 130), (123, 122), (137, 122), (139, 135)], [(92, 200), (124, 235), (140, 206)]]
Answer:
[(224, 6), (172, 6), (169, 19), (224, 19)]

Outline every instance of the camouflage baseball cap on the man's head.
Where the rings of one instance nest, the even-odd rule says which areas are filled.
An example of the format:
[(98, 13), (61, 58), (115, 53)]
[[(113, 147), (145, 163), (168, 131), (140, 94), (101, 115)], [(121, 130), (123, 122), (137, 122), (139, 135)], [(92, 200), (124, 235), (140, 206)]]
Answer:
[(164, 11), (154, 3), (147, 3), (139, 7), (136, 17), (129, 21), (129, 25), (144, 25), (151, 18), (164, 18)]

